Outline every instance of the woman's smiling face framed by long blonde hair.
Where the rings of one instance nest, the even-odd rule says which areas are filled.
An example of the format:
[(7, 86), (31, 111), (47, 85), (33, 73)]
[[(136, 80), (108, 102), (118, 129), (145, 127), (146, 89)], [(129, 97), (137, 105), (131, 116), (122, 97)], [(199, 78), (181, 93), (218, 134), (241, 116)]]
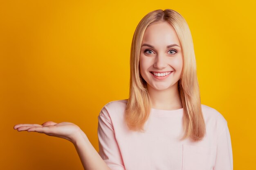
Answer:
[(146, 28), (141, 43), (139, 71), (148, 88), (166, 90), (177, 86), (183, 67), (180, 40), (168, 22)]

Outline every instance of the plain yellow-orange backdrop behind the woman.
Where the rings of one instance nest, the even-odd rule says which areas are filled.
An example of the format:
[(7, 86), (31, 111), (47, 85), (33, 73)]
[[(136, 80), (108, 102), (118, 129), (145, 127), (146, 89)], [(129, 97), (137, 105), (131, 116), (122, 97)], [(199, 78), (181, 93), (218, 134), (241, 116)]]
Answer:
[(254, 0), (1, 0), (2, 170), (82, 170), (71, 142), (13, 130), (73, 122), (98, 150), (97, 116), (128, 98), (132, 35), (155, 9), (174, 9), (191, 29), (202, 104), (228, 122), (234, 170), (255, 166)]

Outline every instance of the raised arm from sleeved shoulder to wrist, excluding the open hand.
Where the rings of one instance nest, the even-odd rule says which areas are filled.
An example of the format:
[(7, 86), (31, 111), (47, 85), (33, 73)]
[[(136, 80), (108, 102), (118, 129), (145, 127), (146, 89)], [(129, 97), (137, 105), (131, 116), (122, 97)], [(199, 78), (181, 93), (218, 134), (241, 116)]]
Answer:
[(73, 142), (85, 170), (125, 170), (108, 109), (103, 107), (98, 116), (99, 153), (83, 131)]

